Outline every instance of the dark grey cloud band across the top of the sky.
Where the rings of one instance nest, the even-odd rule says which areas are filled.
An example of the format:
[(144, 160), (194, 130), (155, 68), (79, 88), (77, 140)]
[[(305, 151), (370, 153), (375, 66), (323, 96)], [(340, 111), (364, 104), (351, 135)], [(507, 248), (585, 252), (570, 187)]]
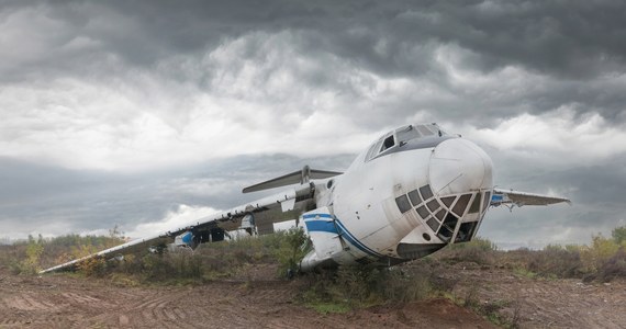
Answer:
[[(480, 122), (484, 113), (513, 116), (519, 111), (544, 113), (572, 106), (579, 113), (594, 111), (623, 122), (625, 11), (623, 1), (584, 0), (20, 2), (5, 4), (0, 18), (10, 27), (7, 34), (25, 43), (14, 52), (31, 54), (5, 50), (14, 60), (0, 65), (0, 72), (10, 81), (67, 75), (120, 78), (136, 70), (154, 71), (176, 56), (202, 60), (225, 43), (254, 33), (262, 37), (258, 33), (287, 32), (291, 44), (278, 46), (292, 47), (293, 54), (321, 64), (315, 72), (295, 72), (300, 83), (336, 90), (346, 103), (365, 97), (362, 80), (349, 80), (340, 70), (333, 70), (332, 60), (383, 78), (433, 83), (439, 100), (396, 94), (392, 95), (395, 100), (376, 103), (379, 111), (395, 113), (395, 117), (424, 110)], [(237, 57), (262, 66), (267, 49), (255, 42), (262, 43), (249, 38)], [(507, 86), (516, 90), (498, 90), (495, 94), (455, 87), (449, 72), (437, 63), (437, 52), (446, 45), (457, 47), (457, 65), (465, 70), (490, 75), (513, 66), (545, 79), (539, 86), (536, 79)], [(329, 69), (325, 71), (325, 67)], [(199, 79), (181, 76), (177, 69), (161, 73), (195, 80), (200, 88), (216, 88), (205, 83), (215, 71), (211, 67), (199, 70), (194, 72)], [(255, 86), (262, 89), (276, 71), (269, 67), (255, 78)], [(268, 99), (271, 93), (262, 95)], [(502, 93), (506, 95), (498, 97)]]

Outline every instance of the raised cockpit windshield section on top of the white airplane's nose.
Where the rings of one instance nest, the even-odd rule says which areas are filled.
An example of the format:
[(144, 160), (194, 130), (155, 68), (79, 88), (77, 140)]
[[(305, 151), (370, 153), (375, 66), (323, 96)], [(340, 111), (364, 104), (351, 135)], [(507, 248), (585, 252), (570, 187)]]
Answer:
[(391, 149), (406, 145), (410, 140), (426, 137), (441, 137), (447, 135), (437, 124), (407, 125), (384, 134), (372, 144), (366, 155), (365, 161), (369, 161)]

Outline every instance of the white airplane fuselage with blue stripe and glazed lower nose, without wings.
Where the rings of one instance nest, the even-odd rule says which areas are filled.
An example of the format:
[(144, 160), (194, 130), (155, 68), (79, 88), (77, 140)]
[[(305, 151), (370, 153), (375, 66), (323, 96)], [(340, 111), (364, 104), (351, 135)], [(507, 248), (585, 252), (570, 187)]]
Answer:
[(343, 175), (316, 184), (317, 208), (301, 217), (314, 246), (303, 270), (399, 263), (476, 235), (493, 189), (489, 156), (460, 137), (403, 141), (399, 131), (385, 135), (393, 146), (380, 151), (383, 136)]

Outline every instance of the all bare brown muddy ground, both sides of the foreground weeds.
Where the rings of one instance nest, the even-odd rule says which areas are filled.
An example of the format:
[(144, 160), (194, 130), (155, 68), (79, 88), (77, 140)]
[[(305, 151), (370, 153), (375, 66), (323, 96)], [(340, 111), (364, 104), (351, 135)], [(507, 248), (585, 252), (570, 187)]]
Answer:
[[(297, 303), (304, 280), (268, 265), (201, 286), (116, 286), (76, 275), (13, 275), (0, 265), (0, 328), (495, 328), (446, 298), (322, 315)], [(498, 305), (522, 328), (624, 328), (626, 283), (536, 280), (456, 264), (441, 277), (459, 299)]]

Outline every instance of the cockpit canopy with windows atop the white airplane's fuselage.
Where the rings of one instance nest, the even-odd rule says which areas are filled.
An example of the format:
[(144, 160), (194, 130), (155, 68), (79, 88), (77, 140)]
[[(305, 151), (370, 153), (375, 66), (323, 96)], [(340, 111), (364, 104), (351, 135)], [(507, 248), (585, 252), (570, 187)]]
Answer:
[(421, 147), (433, 146), (434, 143), (435, 145), (440, 143), (441, 137), (447, 136), (448, 135), (435, 123), (403, 126), (384, 134), (373, 143), (365, 157), (365, 162), (387, 154), (392, 154), (394, 150), (398, 151), (399, 148), (407, 144), (414, 144)]

